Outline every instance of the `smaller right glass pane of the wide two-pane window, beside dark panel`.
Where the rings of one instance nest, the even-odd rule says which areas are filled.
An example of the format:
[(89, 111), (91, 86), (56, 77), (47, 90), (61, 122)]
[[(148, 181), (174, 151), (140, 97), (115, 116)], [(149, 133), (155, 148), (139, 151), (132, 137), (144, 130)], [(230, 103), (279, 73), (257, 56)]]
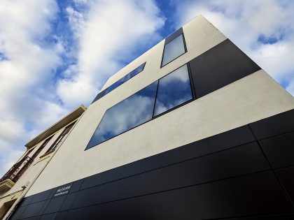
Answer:
[(193, 98), (187, 65), (159, 80), (154, 116)]

